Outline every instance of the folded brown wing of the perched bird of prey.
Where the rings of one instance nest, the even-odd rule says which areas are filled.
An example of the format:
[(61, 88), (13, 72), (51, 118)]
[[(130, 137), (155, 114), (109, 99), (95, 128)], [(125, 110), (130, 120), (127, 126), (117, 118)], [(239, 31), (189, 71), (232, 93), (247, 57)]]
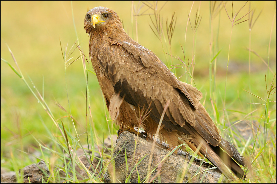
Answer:
[[(99, 51), (98, 59), (115, 93), (141, 109), (150, 106), (150, 117), (156, 123), (159, 123), (163, 108), (169, 100), (162, 121), (165, 129), (187, 133), (184, 125), (189, 123), (210, 144), (219, 144), (221, 136), (199, 102), (201, 92), (180, 82), (154, 53), (138, 43), (111, 43)], [(115, 50), (117, 54), (114, 54)]]

